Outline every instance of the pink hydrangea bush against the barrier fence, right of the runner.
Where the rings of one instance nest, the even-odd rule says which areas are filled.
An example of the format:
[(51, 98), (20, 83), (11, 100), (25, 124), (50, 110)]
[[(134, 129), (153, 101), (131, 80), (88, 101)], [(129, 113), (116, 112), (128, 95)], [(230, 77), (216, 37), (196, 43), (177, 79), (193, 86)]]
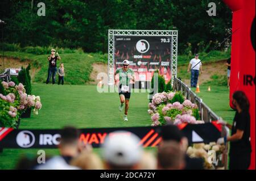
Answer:
[(200, 113), (196, 104), (185, 100), (181, 92), (162, 92), (152, 97), (148, 104), (148, 113), (151, 115), (152, 126), (173, 123), (201, 124)]

